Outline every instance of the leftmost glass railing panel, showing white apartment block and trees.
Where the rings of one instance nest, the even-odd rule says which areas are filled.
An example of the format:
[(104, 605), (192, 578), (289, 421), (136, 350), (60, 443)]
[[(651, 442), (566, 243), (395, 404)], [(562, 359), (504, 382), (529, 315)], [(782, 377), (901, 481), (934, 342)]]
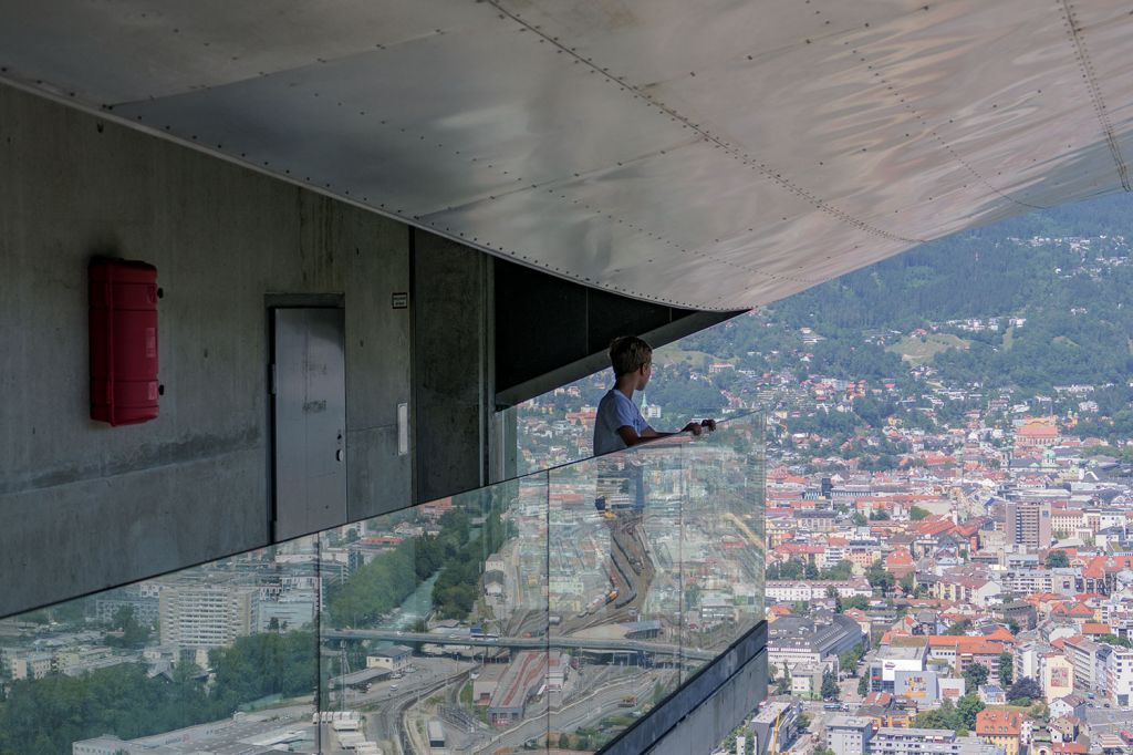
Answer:
[(299, 537), (0, 621), (0, 753), (320, 752), (318, 546)]

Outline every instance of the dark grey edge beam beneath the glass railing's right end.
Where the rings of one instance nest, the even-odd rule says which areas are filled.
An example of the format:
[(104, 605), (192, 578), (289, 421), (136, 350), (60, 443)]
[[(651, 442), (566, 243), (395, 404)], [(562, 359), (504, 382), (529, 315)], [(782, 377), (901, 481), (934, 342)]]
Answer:
[(600, 755), (710, 753), (767, 696), (767, 622), (760, 621)]

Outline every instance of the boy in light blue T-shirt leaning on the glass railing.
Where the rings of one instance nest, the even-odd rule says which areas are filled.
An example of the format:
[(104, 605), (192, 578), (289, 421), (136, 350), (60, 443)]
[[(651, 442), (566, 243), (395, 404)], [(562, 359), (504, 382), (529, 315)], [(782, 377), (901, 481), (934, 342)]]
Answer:
[[(598, 402), (594, 423), (594, 455), (645, 443), (676, 433), (658, 433), (641, 416), (633, 402), (633, 391), (645, 390), (653, 376), (653, 348), (636, 336), (615, 338), (610, 345), (610, 364), (614, 368), (614, 387)], [(716, 430), (715, 419), (690, 422), (680, 432), (699, 435), (704, 429)]]

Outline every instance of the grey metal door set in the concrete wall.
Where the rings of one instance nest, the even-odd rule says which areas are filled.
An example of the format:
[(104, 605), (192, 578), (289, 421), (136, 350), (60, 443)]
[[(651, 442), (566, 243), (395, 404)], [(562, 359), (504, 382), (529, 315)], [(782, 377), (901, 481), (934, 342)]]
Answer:
[(274, 309), (275, 540), (347, 517), (342, 309)]

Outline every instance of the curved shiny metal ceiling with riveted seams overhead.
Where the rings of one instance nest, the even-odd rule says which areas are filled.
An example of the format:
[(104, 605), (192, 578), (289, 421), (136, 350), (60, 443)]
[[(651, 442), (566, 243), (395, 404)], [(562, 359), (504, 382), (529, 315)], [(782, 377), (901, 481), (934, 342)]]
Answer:
[(1130, 190), (1113, 0), (0, 0), (0, 78), (627, 296)]

